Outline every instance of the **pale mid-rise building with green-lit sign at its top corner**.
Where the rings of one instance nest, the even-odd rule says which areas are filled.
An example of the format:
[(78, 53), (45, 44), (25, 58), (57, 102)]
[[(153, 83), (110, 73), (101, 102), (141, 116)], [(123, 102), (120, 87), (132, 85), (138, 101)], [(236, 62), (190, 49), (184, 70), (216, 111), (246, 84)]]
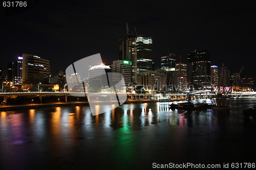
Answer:
[(132, 62), (124, 60), (113, 61), (112, 72), (119, 72), (120, 74), (122, 74), (125, 85), (129, 86), (129, 84), (131, 83)]

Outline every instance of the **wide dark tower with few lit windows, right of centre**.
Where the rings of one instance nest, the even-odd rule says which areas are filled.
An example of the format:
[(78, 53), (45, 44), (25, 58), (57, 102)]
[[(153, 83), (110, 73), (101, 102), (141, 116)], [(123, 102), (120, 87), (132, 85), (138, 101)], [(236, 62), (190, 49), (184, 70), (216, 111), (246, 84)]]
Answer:
[[(192, 51), (187, 54), (188, 82), (202, 87), (210, 86), (210, 51)], [(207, 76), (207, 77), (206, 77)]]

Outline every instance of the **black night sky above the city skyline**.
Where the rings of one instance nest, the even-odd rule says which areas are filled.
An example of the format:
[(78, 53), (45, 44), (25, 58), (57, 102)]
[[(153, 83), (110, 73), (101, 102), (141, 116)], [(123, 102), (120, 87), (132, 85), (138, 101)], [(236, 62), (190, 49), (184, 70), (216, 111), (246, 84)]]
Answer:
[(118, 40), (127, 20), (130, 29), (153, 37), (156, 66), (168, 48), (182, 62), (192, 50), (210, 50), (213, 65), (225, 63), (230, 74), (244, 65), (242, 75), (256, 77), (256, 6), (236, 2), (39, 1), (8, 16), (1, 2), (0, 67), (7, 74), (8, 62), (23, 53), (50, 60), (54, 74), (97, 53), (111, 64), (118, 59)]

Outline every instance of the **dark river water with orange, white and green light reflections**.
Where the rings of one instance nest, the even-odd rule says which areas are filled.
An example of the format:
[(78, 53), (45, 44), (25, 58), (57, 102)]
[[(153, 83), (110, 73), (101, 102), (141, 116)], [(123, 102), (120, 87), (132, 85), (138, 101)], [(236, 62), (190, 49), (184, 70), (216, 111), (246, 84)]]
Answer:
[(88, 106), (2, 111), (0, 169), (256, 162), (256, 123), (242, 115), (256, 98), (234, 98), (230, 113), (169, 110), (168, 104), (125, 104), (96, 116)]

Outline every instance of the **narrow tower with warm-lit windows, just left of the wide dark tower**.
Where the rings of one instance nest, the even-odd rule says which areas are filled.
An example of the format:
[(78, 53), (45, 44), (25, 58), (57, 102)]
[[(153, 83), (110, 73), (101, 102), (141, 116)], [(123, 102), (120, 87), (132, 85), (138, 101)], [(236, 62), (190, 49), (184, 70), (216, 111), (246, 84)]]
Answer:
[(178, 71), (179, 90), (185, 90), (187, 86), (187, 64), (176, 63), (175, 69)]

